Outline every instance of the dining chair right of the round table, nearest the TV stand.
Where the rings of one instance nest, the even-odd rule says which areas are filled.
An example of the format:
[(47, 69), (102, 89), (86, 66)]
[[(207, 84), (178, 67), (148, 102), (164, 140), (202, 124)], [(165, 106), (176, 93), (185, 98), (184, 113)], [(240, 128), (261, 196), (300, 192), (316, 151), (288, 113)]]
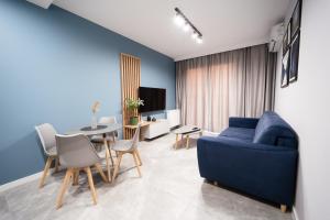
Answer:
[(114, 172), (112, 175), (112, 182), (114, 182), (119, 168), (120, 168), (120, 163), (122, 160), (122, 156), (124, 154), (131, 154), (134, 158), (135, 165), (136, 165), (136, 169), (139, 173), (139, 176), (141, 177), (141, 170), (140, 170), (140, 166), (142, 165), (142, 161), (138, 151), (138, 145), (139, 145), (139, 139), (140, 139), (140, 129), (141, 129), (141, 124), (138, 124), (138, 128), (135, 130), (134, 136), (132, 140), (118, 140), (116, 141), (114, 145), (112, 145), (112, 150), (116, 152), (117, 154), (117, 165), (114, 166)]

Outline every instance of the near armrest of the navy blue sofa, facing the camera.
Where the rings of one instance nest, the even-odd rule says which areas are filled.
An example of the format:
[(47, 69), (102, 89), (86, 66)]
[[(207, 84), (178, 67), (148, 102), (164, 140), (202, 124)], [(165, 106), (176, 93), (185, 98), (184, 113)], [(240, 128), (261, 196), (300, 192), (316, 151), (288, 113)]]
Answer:
[(201, 177), (277, 204), (293, 205), (297, 150), (202, 136), (197, 141), (197, 153)]

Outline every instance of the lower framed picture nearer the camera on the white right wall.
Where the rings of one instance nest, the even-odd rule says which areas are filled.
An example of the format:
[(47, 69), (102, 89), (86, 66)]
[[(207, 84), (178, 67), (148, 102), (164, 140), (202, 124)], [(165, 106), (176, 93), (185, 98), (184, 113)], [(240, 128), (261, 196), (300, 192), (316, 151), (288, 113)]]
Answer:
[(293, 40), (290, 47), (290, 65), (289, 65), (289, 81), (295, 81), (298, 79), (298, 63), (299, 63), (299, 42), (300, 33), (296, 34), (296, 37)]

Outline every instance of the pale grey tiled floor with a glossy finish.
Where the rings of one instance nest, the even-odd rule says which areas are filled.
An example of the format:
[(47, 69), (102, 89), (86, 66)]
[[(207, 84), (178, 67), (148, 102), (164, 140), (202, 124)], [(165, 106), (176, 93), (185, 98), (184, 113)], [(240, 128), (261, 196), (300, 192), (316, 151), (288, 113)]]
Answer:
[(196, 157), (196, 140), (191, 148), (172, 148), (173, 134), (142, 142), (142, 178), (125, 155), (121, 174), (114, 184), (105, 184), (98, 174), (95, 183), (98, 205), (92, 206), (84, 175), (80, 186), (72, 186), (64, 206), (55, 209), (55, 199), (64, 173), (0, 194), (0, 219), (116, 219), (116, 220), (290, 220), (276, 207), (216, 187), (200, 178)]

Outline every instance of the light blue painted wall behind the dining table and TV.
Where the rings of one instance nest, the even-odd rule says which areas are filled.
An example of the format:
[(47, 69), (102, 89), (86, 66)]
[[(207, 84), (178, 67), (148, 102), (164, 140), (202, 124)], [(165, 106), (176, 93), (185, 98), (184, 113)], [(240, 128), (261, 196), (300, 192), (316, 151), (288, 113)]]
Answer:
[(57, 7), (0, 1), (0, 185), (43, 169), (34, 125), (89, 124), (96, 100), (121, 121), (120, 53), (141, 58), (141, 85), (166, 88), (174, 109), (172, 58)]

